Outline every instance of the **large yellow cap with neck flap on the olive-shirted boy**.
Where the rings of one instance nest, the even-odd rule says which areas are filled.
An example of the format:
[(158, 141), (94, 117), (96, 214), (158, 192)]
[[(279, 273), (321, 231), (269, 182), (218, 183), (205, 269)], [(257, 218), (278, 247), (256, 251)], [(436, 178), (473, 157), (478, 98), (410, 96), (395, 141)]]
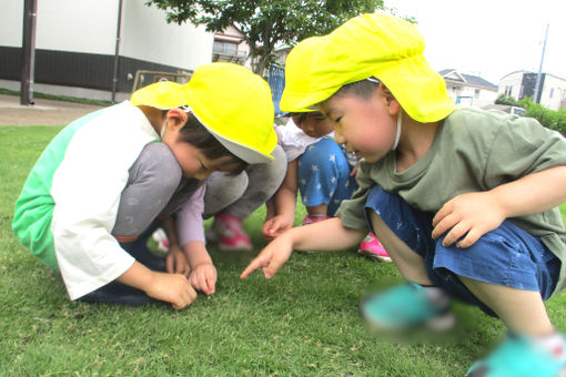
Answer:
[(414, 120), (442, 120), (456, 106), (444, 79), (424, 59), (424, 48), (423, 37), (410, 22), (380, 13), (355, 17), (324, 38), (309, 70), (293, 71), (293, 81), (301, 84), (281, 102), (285, 111), (300, 111), (347, 83), (375, 77)]

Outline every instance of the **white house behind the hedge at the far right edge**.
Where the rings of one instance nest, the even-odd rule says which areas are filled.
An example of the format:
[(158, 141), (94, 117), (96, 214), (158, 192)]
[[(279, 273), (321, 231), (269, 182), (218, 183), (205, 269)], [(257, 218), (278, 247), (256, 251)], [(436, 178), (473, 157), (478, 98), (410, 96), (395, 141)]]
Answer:
[[(515, 71), (506, 74), (499, 82), (497, 95), (505, 94), (515, 100), (534, 96), (537, 73)], [(566, 80), (549, 73), (540, 74), (537, 101), (550, 110), (566, 109)]]

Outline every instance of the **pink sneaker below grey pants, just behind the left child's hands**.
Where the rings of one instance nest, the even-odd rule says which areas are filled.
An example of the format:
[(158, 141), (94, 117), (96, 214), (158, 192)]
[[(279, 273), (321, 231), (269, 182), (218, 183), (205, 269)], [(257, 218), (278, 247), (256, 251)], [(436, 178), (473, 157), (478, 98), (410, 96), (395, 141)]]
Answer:
[(218, 241), (223, 252), (249, 252), (252, 249), (252, 240), (242, 227), (242, 218), (220, 213), (214, 216), (214, 223), (206, 232), (206, 237)]

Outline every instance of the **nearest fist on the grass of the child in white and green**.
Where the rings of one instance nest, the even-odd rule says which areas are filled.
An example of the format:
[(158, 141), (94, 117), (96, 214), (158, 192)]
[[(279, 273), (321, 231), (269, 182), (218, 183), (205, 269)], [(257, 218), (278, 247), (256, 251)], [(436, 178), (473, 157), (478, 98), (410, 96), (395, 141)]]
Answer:
[(178, 310), (189, 306), (196, 298), (196, 292), (184, 275), (158, 272), (152, 272), (152, 281), (145, 289), (145, 294), (155, 299), (171, 303)]

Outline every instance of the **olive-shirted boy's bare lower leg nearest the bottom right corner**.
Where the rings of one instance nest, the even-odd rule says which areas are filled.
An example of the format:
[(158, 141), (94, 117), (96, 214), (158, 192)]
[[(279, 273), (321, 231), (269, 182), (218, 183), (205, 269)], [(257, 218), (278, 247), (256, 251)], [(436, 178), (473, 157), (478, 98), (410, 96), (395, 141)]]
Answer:
[(517, 334), (544, 336), (554, 333), (538, 292), (520, 291), (458, 276), (464, 285)]

